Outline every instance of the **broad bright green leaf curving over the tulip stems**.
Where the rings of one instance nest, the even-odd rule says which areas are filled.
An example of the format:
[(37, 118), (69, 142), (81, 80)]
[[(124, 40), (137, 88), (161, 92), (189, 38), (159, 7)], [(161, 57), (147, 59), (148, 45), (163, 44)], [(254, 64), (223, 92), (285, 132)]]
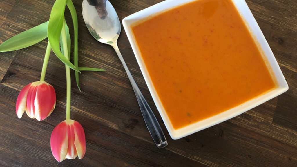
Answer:
[(67, 0), (56, 0), (53, 5), (52, 11), (50, 12), (50, 19), (48, 22), (48, 41), (52, 46), (53, 52), (56, 56), (68, 67), (75, 71), (78, 71), (75, 67), (60, 51), (60, 35), (64, 22), (64, 11)]

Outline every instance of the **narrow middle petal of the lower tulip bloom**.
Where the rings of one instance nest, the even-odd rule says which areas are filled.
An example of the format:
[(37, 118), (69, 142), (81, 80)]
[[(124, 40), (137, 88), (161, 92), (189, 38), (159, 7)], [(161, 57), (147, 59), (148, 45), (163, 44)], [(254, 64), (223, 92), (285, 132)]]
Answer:
[(75, 133), (74, 133), (74, 126), (73, 120), (67, 120), (67, 132), (68, 132), (68, 150), (66, 157), (67, 159), (75, 159), (77, 157), (77, 151), (75, 148), (74, 140), (75, 140)]

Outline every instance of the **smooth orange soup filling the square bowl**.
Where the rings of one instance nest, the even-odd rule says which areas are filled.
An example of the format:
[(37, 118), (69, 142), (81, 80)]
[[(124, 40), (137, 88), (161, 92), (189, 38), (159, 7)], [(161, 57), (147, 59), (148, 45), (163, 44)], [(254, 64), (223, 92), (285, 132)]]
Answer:
[(132, 26), (174, 129), (276, 87), (231, 0), (197, 0)]

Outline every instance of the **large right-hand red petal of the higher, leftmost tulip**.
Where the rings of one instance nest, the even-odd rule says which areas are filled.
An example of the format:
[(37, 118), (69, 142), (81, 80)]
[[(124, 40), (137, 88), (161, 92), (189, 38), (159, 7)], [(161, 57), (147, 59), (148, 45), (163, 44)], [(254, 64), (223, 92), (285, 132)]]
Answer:
[(36, 98), (34, 100), (34, 117), (42, 121), (48, 117), (56, 106), (56, 93), (53, 86), (43, 81), (37, 86)]

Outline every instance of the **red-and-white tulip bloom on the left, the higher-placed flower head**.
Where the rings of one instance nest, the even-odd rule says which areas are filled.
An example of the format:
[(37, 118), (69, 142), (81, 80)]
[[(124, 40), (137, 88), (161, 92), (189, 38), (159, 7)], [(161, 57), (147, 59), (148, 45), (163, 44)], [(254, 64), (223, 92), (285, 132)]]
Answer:
[(45, 81), (37, 81), (20, 91), (15, 109), (18, 118), (26, 111), (30, 118), (42, 121), (53, 112), (55, 106), (56, 92), (53, 86)]

